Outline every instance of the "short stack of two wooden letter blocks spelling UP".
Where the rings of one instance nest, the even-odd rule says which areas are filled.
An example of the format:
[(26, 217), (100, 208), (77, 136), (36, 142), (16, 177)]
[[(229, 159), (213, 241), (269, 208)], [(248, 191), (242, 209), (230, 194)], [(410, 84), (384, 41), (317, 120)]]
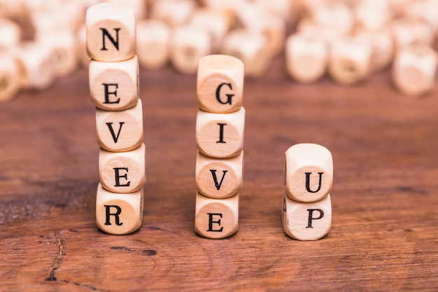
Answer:
[(332, 153), (318, 144), (297, 144), (285, 153), (283, 229), (299, 240), (324, 237), (332, 225)]

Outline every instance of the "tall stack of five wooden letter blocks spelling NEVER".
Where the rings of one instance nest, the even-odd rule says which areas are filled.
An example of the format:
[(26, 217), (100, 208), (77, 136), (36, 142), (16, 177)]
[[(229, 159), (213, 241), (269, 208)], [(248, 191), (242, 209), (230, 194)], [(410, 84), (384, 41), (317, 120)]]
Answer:
[(97, 106), (96, 223), (104, 232), (138, 230), (143, 218), (145, 146), (134, 9), (104, 3), (87, 10), (90, 95)]

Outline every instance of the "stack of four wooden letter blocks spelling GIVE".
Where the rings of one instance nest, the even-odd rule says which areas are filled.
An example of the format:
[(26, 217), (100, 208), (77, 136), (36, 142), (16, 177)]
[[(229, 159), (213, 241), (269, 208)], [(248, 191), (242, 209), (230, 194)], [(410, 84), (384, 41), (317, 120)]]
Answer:
[(243, 62), (229, 55), (199, 60), (197, 71), (195, 231), (221, 239), (239, 228), (243, 183)]

